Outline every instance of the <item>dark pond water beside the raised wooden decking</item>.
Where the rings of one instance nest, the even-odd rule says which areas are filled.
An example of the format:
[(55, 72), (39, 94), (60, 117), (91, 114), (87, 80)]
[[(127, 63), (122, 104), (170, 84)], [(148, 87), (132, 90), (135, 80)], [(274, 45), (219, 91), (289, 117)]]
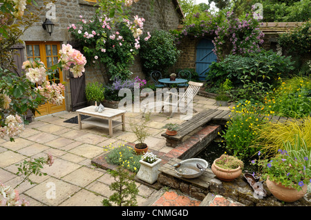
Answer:
[[(209, 145), (207, 145), (201, 152), (196, 154), (196, 158), (205, 159), (209, 163), (208, 168), (211, 168), (211, 164), (213, 164), (214, 160), (224, 154), (226, 152), (225, 141), (221, 138), (216, 138), (214, 141), (211, 141)], [(229, 154), (227, 152), (227, 154)], [(253, 172), (254, 166), (249, 164), (248, 160), (243, 160), (244, 162), (244, 169), (248, 170), (249, 172)]]

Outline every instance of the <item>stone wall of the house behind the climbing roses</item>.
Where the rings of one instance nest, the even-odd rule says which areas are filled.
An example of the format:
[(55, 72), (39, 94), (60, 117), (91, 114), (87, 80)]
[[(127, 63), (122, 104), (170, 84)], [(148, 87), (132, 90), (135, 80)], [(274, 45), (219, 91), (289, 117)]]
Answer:
[[(176, 0), (158, 0), (151, 4), (152, 0), (140, 0), (138, 3), (133, 3), (131, 16), (138, 14), (139, 17), (145, 19), (144, 32), (152, 32), (153, 30), (170, 30), (176, 29), (183, 18), (182, 12), (178, 1)], [(39, 6), (44, 6), (43, 1), (37, 1)], [(89, 20), (93, 17), (95, 10), (95, 3), (84, 0), (59, 0), (55, 3), (55, 19), (51, 19), (55, 23), (54, 31), (51, 36), (42, 28), (42, 23), (46, 20), (46, 12), (42, 13), (39, 17), (39, 21), (34, 23), (28, 30), (26, 30), (21, 37), (22, 41), (57, 41), (59, 43), (70, 43), (77, 50), (82, 50), (79, 45), (74, 42), (70, 32), (68, 32), (68, 26), (72, 23), (79, 21), (79, 15), (82, 15), (83, 19)], [(31, 11), (31, 6), (28, 6)], [(48, 9), (47, 9), (48, 10)], [(24, 50), (24, 57), (26, 58), (26, 50)], [(86, 67), (85, 79), (86, 84), (89, 82), (98, 81), (100, 83), (106, 83), (104, 81), (104, 68), (100, 67)], [(144, 73), (142, 72), (142, 65), (139, 57), (136, 57), (131, 72), (135, 76), (139, 76), (144, 79)], [(66, 110), (70, 110), (70, 79), (68, 71), (63, 71), (64, 81), (66, 84), (65, 102)]]

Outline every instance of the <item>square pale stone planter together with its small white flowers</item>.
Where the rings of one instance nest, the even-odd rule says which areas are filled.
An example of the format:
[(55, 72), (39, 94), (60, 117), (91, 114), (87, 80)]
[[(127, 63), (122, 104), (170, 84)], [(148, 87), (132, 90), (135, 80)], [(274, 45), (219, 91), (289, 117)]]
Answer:
[(161, 161), (162, 159), (156, 157), (152, 152), (145, 153), (140, 160), (140, 170), (136, 177), (149, 184), (155, 183), (160, 173), (158, 169), (160, 168)]

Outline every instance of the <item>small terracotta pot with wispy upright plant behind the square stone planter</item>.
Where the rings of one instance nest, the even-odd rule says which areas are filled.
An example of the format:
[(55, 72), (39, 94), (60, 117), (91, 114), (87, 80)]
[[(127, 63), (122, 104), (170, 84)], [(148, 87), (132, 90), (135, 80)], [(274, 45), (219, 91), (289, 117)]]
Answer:
[(144, 140), (149, 136), (149, 132), (146, 128), (146, 123), (148, 119), (144, 119), (139, 123), (131, 121), (129, 123), (131, 130), (138, 139), (138, 143), (135, 143), (134, 150), (137, 154), (143, 154), (148, 151), (147, 143), (144, 143)]

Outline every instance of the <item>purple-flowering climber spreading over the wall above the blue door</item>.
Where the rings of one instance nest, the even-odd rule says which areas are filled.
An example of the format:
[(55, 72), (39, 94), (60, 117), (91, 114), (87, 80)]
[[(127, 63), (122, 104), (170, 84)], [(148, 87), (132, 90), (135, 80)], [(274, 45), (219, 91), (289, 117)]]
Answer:
[[(259, 29), (259, 19), (255, 19), (252, 13), (239, 18), (233, 11), (205, 13), (196, 14), (191, 20), (192, 23), (181, 30), (179, 37), (188, 34), (194, 37), (213, 37), (213, 51), (219, 60), (223, 60), (226, 52), (243, 55), (261, 51), (260, 46), (265, 34)], [(174, 33), (174, 36), (176, 41), (180, 42), (178, 34)]]

